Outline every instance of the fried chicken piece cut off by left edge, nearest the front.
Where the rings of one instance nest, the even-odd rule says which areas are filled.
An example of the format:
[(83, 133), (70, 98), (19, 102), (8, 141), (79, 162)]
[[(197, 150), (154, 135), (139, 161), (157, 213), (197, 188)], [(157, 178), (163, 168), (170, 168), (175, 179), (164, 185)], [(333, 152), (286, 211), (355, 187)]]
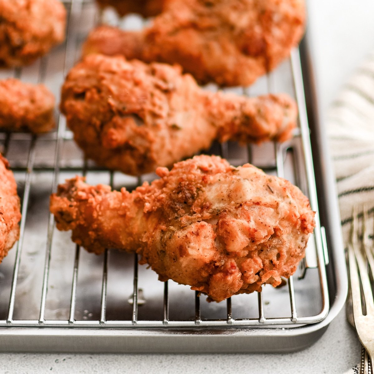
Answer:
[(0, 154), (0, 262), (19, 238), (19, 209), (16, 181), (7, 159)]

